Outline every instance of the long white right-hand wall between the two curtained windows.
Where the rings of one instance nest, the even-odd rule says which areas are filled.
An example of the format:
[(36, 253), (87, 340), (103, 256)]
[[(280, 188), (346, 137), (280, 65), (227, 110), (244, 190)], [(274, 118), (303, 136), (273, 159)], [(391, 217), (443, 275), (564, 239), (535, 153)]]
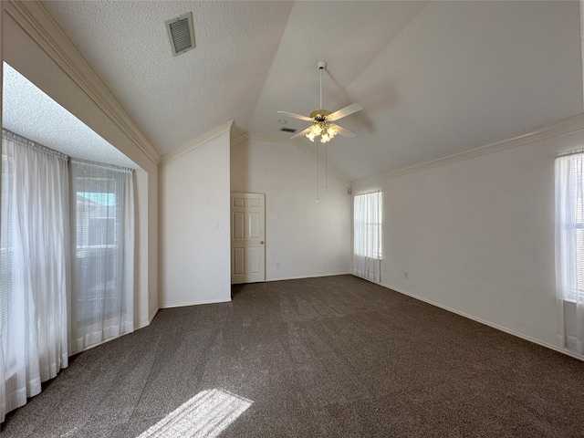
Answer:
[(554, 158), (584, 144), (579, 120), (577, 132), (354, 187), (383, 190), (382, 284), (556, 346)]

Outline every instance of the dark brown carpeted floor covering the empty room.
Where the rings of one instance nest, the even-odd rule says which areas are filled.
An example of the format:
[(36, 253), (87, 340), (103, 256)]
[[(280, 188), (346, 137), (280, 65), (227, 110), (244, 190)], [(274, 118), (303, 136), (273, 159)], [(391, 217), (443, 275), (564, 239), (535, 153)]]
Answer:
[(137, 437), (185, 406), (211, 418), (189, 404), (210, 394), (247, 403), (225, 437), (584, 436), (583, 361), (354, 276), (233, 298), (71, 358), (2, 436)]

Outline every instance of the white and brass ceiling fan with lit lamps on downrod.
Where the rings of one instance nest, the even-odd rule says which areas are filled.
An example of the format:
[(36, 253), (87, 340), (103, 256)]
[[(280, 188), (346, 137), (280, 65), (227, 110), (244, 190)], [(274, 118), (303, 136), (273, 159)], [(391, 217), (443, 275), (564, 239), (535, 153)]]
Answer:
[[(320, 72), (320, 108), (322, 108), (322, 70), (327, 68), (327, 62), (318, 61), (317, 67)], [(349, 106), (335, 112), (330, 112), (329, 110), (315, 110), (312, 111), (308, 117), (287, 111), (277, 111), (277, 113), (286, 114), (295, 119), (305, 120), (312, 123), (312, 125), (306, 130), (298, 132), (295, 136), (291, 137), (292, 139), (301, 135), (306, 135), (309, 141), (314, 141), (316, 137), (320, 136), (320, 142), (326, 143), (337, 135), (337, 133), (344, 135), (345, 137), (355, 137), (355, 135), (357, 135), (355, 132), (352, 130), (346, 130), (334, 122), (362, 109), (363, 107), (359, 103), (351, 103)]]

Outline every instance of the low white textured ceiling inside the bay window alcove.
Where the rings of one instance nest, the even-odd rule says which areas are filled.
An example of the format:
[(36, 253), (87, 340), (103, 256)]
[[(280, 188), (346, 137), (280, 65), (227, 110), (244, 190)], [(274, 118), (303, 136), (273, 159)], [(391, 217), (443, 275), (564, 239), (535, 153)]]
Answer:
[(4, 63), (3, 127), (69, 157), (138, 169), (68, 110)]

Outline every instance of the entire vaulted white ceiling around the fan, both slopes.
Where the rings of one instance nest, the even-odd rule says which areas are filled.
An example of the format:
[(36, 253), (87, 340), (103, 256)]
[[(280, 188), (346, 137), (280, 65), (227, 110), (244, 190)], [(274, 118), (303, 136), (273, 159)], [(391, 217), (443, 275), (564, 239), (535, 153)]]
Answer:
[[(328, 143), (351, 181), (582, 112), (578, 1), (45, 5), (161, 155), (228, 120), (303, 130), (276, 111), (318, 109), (320, 59), (323, 106), (364, 107)], [(196, 48), (172, 57), (164, 21), (187, 11)]]

